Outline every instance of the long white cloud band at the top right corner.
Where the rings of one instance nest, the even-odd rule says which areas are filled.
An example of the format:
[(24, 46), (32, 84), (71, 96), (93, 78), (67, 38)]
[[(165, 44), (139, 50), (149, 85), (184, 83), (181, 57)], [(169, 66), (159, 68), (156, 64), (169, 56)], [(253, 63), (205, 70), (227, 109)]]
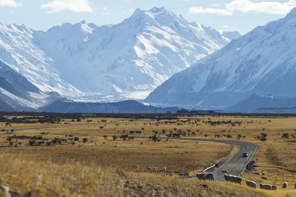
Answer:
[[(210, 6), (215, 6), (211, 4)], [(281, 3), (277, 1), (269, 2), (252, 2), (251, 0), (233, 0), (225, 4), (225, 8), (203, 8), (203, 7), (190, 7), (189, 14), (217, 14), (230, 16), (235, 11), (243, 13), (257, 12), (265, 14), (287, 14), (296, 6), (296, 0), (289, 0), (288, 2)]]

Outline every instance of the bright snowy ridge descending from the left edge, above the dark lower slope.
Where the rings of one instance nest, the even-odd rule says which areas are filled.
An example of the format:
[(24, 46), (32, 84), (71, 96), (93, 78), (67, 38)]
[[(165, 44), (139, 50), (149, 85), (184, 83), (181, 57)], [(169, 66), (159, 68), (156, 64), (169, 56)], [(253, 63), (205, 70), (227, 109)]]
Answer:
[(82, 95), (67, 83), (59, 67), (32, 42), (33, 31), (25, 25), (0, 23), (0, 59), (25, 76), (43, 92)]

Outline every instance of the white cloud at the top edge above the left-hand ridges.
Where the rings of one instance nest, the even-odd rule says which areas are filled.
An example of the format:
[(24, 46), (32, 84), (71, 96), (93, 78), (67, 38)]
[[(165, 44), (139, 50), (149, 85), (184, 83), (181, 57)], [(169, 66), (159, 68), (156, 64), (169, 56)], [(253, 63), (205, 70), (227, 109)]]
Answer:
[(41, 9), (50, 9), (46, 13), (56, 13), (62, 10), (71, 10), (74, 12), (92, 12), (88, 0), (53, 0), (40, 6)]

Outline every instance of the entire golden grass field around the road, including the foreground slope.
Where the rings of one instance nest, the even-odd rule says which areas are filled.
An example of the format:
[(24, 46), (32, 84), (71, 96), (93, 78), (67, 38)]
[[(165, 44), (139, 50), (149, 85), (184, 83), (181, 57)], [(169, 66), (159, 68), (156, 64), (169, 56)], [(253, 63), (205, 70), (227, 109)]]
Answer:
[[(2, 158), (6, 158), (6, 168), (2, 167), (0, 178), (7, 182), (11, 188), (20, 190), (21, 192), (30, 191), (31, 189), (38, 189), (40, 193), (38, 196), (46, 196), (53, 191), (58, 191), (58, 196), (97, 196), (104, 194), (105, 196), (132, 196), (134, 194), (141, 196), (138, 191), (131, 190), (137, 186), (124, 187), (126, 180), (116, 176), (115, 170), (120, 169), (126, 172), (128, 182), (141, 183), (142, 185), (152, 184), (153, 187), (157, 187), (159, 191), (163, 191), (168, 196), (194, 196), (193, 194), (207, 194), (208, 196), (270, 196), (270, 197), (293, 197), (296, 196), (296, 189), (294, 184), (296, 183), (296, 139), (293, 138), (296, 134), (296, 118), (294, 117), (208, 117), (199, 116), (200, 122), (194, 120), (182, 123), (176, 122), (172, 124), (165, 124), (165, 121), (157, 123), (155, 120), (133, 120), (120, 119), (120, 118), (104, 118), (107, 122), (101, 122), (102, 118), (85, 119), (81, 122), (72, 122), (72, 120), (64, 120), (61, 124), (12, 124), (11, 126), (0, 125), (0, 130), (20, 129), (20, 128), (42, 128), (41, 130), (28, 130), (28, 131), (14, 131), (13, 133), (0, 132), (0, 155)], [(186, 120), (187, 117), (181, 117), (181, 120)], [(92, 122), (87, 122), (91, 120)], [(208, 121), (232, 121), (241, 122), (232, 126), (231, 124), (222, 124), (211, 126)], [(64, 124), (64, 123), (69, 124)], [(161, 123), (162, 122), (162, 123)], [(179, 123), (179, 125), (178, 125)], [(119, 124), (119, 125), (118, 125)], [(49, 127), (49, 128), (48, 128)], [(52, 128), (50, 127), (63, 127)], [(104, 127), (104, 128), (100, 128)], [(164, 134), (162, 131), (165, 131)], [(183, 140), (161, 140), (154, 143), (152, 140), (147, 139), (132, 139), (123, 141), (122, 139), (112, 140), (111, 136), (116, 134), (133, 135), (145, 135), (151, 136), (155, 133), (157, 136), (165, 137), (170, 131), (176, 132), (178, 130), (185, 131), (188, 136), (188, 130), (190, 137), (198, 138), (217, 138), (217, 134), (221, 135), (219, 139), (225, 139), (223, 134), (231, 135), (232, 140), (236, 139), (238, 134), (244, 136), (240, 140), (250, 141), (258, 144), (257, 153), (254, 156), (259, 159), (256, 163), (256, 171), (260, 173), (265, 172), (267, 181), (260, 179), (260, 176), (253, 173), (249, 173), (249, 179), (256, 181), (259, 184), (261, 181), (264, 184), (274, 184), (278, 186), (278, 191), (262, 191), (260, 189), (254, 190), (243, 186), (234, 186), (230, 183), (203, 183), (195, 182), (193, 180), (183, 180), (178, 177), (162, 176), (163, 172), (160, 171), (164, 166), (167, 167), (166, 173), (177, 173), (182, 171), (196, 172), (203, 169), (204, 164), (211, 164), (216, 159), (227, 160), (237, 149), (230, 145), (221, 143), (210, 142), (198, 142), (183, 141)], [(264, 130), (264, 131), (263, 131)], [(141, 131), (142, 133), (130, 134), (130, 131)], [(154, 132), (152, 132), (154, 131)], [(18, 140), (22, 142), (21, 145), (9, 145), (5, 140), (8, 136), (16, 135), (28, 135), (39, 136), (41, 132), (49, 132), (47, 135), (42, 135), (44, 138), (52, 140), (54, 137), (69, 138), (70, 134), (74, 134), (74, 137), (79, 137), (79, 141), (74, 145), (70, 140), (68, 142), (62, 142), (61, 144), (55, 144), (54, 146), (34, 145), (29, 146), (28, 139)], [(192, 132), (195, 132), (192, 135)], [(255, 139), (256, 136), (260, 136), (260, 133), (267, 134), (267, 141), (261, 142)], [(289, 138), (282, 138), (283, 133), (289, 133)], [(205, 134), (207, 136), (205, 136)], [(66, 137), (65, 135), (68, 135)], [(101, 135), (108, 135), (105, 140)], [(187, 137), (186, 136), (186, 137)], [(86, 143), (82, 142), (83, 138), (87, 138)], [(15, 140), (14, 144), (16, 143)], [(38, 140), (37, 140), (38, 141)], [(46, 141), (46, 140), (45, 140)], [(143, 144), (141, 144), (143, 142)], [(11, 156), (11, 157), (7, 157)], [(1, 159), (1, 162), (4, 159)], [(43, 185), (34, 185), (33, 179), (36, 181), (38, 176), (37, 172), (32, 172), (32, 175), (26, 175), (24, 172), (20, 173), (21, 169), (14, 167), (15, 169), (8, 169), (9, 164), (31, 164), (33, 169), (44, 170), (44, 174), (47, 174), (45, 183)], [(4, 164), (1, 164), (3, 166)], [(35, 166), (36, 165), (36, 166)], [(24, 165), (25, 166), (25, 165)], [(50, 172), (49, 170), (53, 168)], [(74, 167), (75, 166), (75, 167)], [(138, 169), (135, 166), (139, 166)], [(147, 172), (147, 167), (156, 167), (156, 171)], [(20, 168), (20, 166), (19, 166)], [(29, 167), (28, 167), (29, 168)], [(33, 170), (31, 169), (30, 170)], [(48, 169), (47, 169), (48, 168)], [(74, 169), (72, 169), (74, 168)], [(25, 168), (26, 169), (26, 168)], [(109, 186), (102, 186), (99, 180), (95, 180), (92, 183), (83, 177), (83, 174), (78, 171), (71, 170), (86, 170), (85, 174), (92, 174), (90, 180), (95, 177), (102, 177), (108, 183), (116, 183), (116, 187), (111, 189)], [(12, 171), (11, 171), (12, 170)], [(30, 171), (27, 169), (27, 171)], [(68, 170), (68, 172), (67, 172)], [(87, 171), (88, 170), (88, 171)], [(107, 171), (105, 171), (107, 170)], [(35, 170), (36, 171), (36, 170)], [(38, 171), (38, 170), (37, 170)], [(58, 171), (63, 172), (62, 175), (54, 175)], [(106, 173), (105, 173), (106, 172)], [(27, 172), (26, 172), (27, 173)], [(51, 175), (52, 173), (52, 175)], [(67, 184), (62, 183), (63, 180), (70, 180), (70, 174), (75, 174), (72, 179), (79, 180), (79, 184), (85, 184), (84, 187), (79, 185), (71, 189)], [(115, 174), (115, 178), (110, 178), (108, 174)], [(21, 180), (11, 181), (11, 177), (31, 177), (32, 183), (28, 186)], [(34, 178), (35, 177), (35, 178)], [(51, 179), (50, 179), (51, 177)], [(60, 178), (58, 178), (60, 177)], [(247, 173), (243, 174), (244, 180), (248, 177)], [(17, 178), (15, 178), (17, 179)], [(30, 179), (30, 178), (29, 178)], [(57, 179), (54, 182), (55, 185), (50, 185), (50, 180)], [(120, 180), (119, 180), (120, 179)], [(289, 183), (288, 189), (281, 189), (283, 182)], [(48, 185), (49, 184), (49, 185)], [(53, 183), (52, 183), (53, 184)], [(57, 185), (58, 184), (58, 185)], [(61, 184), (61, 185), (59, 185)], [(96, 185), (96, 189), (93, 184)], [(154, 185), (155, 184), (155, 185)], [(207, 184), (209, 189), (200, 185)], [(100, 187), (99, 187), (100, 186)], [(170, 193), (174, 186), (178, 186), (178, 193)], [(60, 187), (60, 188), (59, 188)], [(81, 188), (79, 188), (81, 187)], [(58, 188), (58, 189), (53, 189)], [(144, 187), (147, 191), (151, 192), (151, 186)], [(150, 189), (151, 190), (150, 190)], [(169, 188), (169, 189), (167, 189)], [(185, 188), (185, 189), (182, 189)], [(130, 194), (128, 194), (128, 191)], [(244, 191), (244, 192), (242, 192)], [(246, 192), (248, 191), (248, 192)], [(147, 192), (147, 194), (150, 194)], [(63, 194), (63, 195), (61, 195)], [(79, 194), (79, 195), (78, 195)], [(113, 194), (113, 195), (112, 195)], [(143, 193), (144, 194), (144, 193)], [(103, 195), (103, 196), (104, 196)], [(287, 196), (288, 195), (288, 196)], [(55, 196), (55, 195), (53, 195)], [(143, 195), (142, 195), (143, 196)], [(144, 195), (145, 196), (145, 195)], [(160, 193), (160, 196), (165, 196), (164, 193)], [(199, 196), (199, 195), (196, 195)]]

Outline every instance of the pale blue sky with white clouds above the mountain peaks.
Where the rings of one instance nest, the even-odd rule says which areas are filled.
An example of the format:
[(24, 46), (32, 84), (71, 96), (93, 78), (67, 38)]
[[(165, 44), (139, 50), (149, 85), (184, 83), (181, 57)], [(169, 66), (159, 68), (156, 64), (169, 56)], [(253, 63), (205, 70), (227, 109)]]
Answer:
[(0, 22), (43, 31), (82, 20), (100, 26), (120, 23), (137, 7), (148, 10), (154, 6), (165, 6), (190, 22), (244, 34), (283, 18), (296, 0), (0, 0)]

